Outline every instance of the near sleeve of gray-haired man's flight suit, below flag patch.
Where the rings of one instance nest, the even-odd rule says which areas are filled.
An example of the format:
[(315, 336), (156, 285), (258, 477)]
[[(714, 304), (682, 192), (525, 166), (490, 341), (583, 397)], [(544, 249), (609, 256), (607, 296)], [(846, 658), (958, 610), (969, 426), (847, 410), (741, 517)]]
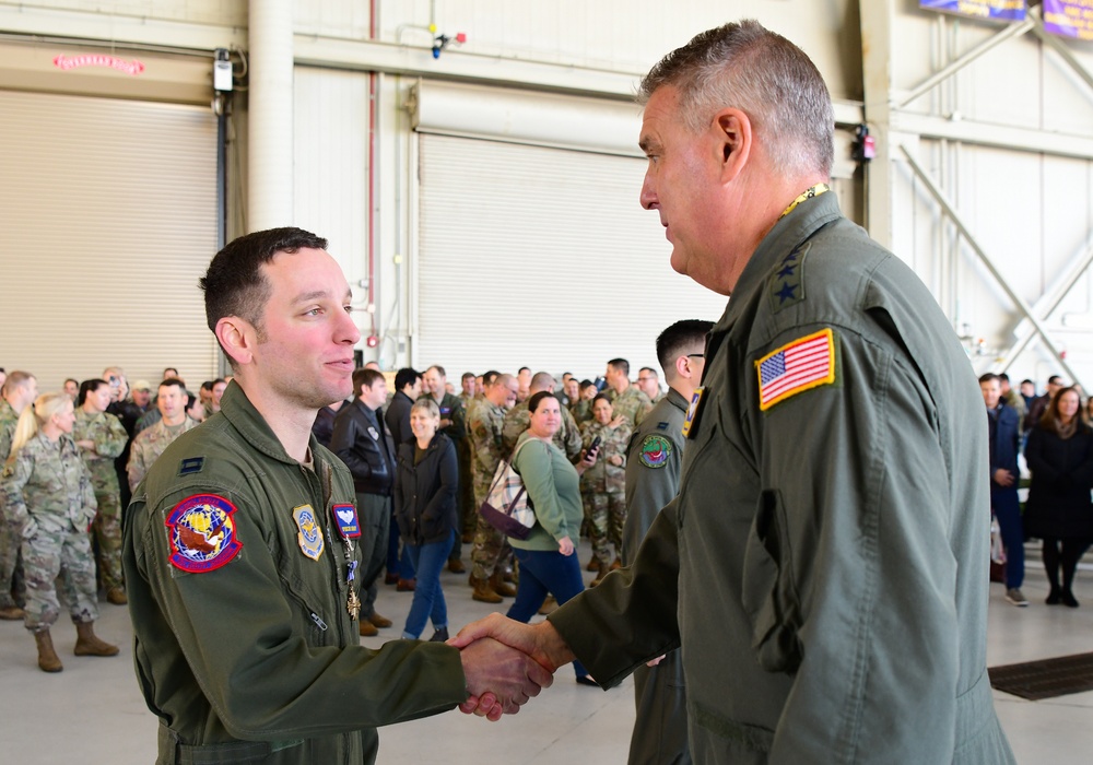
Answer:
[(834, 331), (834, 384), (765, 412), (755, 397), (744, 413), (761, 494), (742, 579), (754, 657), (743, 660), (792, 683), (769, 762), (949, 762), (957, 566), (937, 409), (898, 342)]

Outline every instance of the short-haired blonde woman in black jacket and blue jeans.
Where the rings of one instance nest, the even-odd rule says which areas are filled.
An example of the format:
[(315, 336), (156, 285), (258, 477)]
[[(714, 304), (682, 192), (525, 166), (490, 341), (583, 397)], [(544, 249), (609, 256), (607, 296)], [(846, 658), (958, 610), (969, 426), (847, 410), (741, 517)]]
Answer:
[(418, 572), (418, 587), (402, 637), (415, 640), (432, 616), (430, 640), (448, 639), (448, 609), (440, 589), (440, 570), (456, 534), (456, 447), (443, 433), (440, 410), (428, 397), (410, 409), (413, 439), (399, 445), (395, 470), (395, 518), (407, 554)]

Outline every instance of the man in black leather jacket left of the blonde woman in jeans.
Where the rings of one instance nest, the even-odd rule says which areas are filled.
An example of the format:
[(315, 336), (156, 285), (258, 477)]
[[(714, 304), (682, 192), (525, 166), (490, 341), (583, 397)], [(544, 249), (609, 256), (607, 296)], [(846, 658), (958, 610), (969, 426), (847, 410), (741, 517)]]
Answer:
[(380, 409), (387, 400), (387, 380), (383, 374), (357, 369), (353, 373), (353, 392), (356, 397), (334, 417), (330, 450), (353, 473), (364, 531), (361, 635), (372, 637), (377, 627), (391, 626), (391, 620), (376, 613), (376, 577), (384, 568), (390, 537), (395, 448)]

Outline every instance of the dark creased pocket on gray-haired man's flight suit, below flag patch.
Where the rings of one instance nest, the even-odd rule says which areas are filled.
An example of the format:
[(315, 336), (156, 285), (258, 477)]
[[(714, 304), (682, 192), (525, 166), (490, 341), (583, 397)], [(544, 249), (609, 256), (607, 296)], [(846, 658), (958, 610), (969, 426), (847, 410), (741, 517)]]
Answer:
[(787, 542), (781, 493), (764, 490), (744, 551), (742, 601), (751, 619), (752, 648), (768, 672), (794, 672), (801, 663), (800, 599)]

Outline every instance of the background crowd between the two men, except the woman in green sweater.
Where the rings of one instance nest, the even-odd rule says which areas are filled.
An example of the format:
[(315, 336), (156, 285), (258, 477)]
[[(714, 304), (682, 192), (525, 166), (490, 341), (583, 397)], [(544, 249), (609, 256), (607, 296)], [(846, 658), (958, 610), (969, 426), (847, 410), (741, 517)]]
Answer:
[[(384, 581), (414, 592), (404, 636), (418, 637), (423, 615), (432, 615), (433, 639), (447, 639), (439, 570), (446, 565), (457, 574), (467, 572), (463, 545), (471, 545), (468, 585), (474, 600), (501, 603), (518, 598), (519, 554), (482, 520), (478, 508), (497, 466), (510, 459), (531, 432), (534, 413), (529, 403), (540, 393), (559, 407), (550, 434), (557, 454), (567, 466), (581, 472), (587, 468), (575, 481), (581, 511), (571, 541), (581, 531), (591, 539), (590, 570), (606, 574), (621, 565), (631, 432), (663, 396), (657, 370), (640, 370), (644, 388), (628, 375), (626, 360), (613, 358), (597, 380), (563, 373), (560, 385), (550, 373), (532, 374), (528, 367), (515, 375), (491, 369), (465, 373), (457, 390), (440, 365), (424, 373), (406, 367), (391, 377), (369, 363), (354, 373), (353, 399), (320, 410), (313, 433), (350, 468), (362, 522), (374, 532), (373, 539), (386, 541), (368, 551), (363, 581), (372, 582), (374, 573), (386, 567)], [(387, 388), (389, 377), (393, 390)], [(596, 458), (586, 463), (589, 452)], [(360, 632), (366, 637), (391, 626), (376, 611), (376, 595), (371, 584), (362, 601)], [(556, 602), (538, 603), (536, 610), (548, 613)]]

